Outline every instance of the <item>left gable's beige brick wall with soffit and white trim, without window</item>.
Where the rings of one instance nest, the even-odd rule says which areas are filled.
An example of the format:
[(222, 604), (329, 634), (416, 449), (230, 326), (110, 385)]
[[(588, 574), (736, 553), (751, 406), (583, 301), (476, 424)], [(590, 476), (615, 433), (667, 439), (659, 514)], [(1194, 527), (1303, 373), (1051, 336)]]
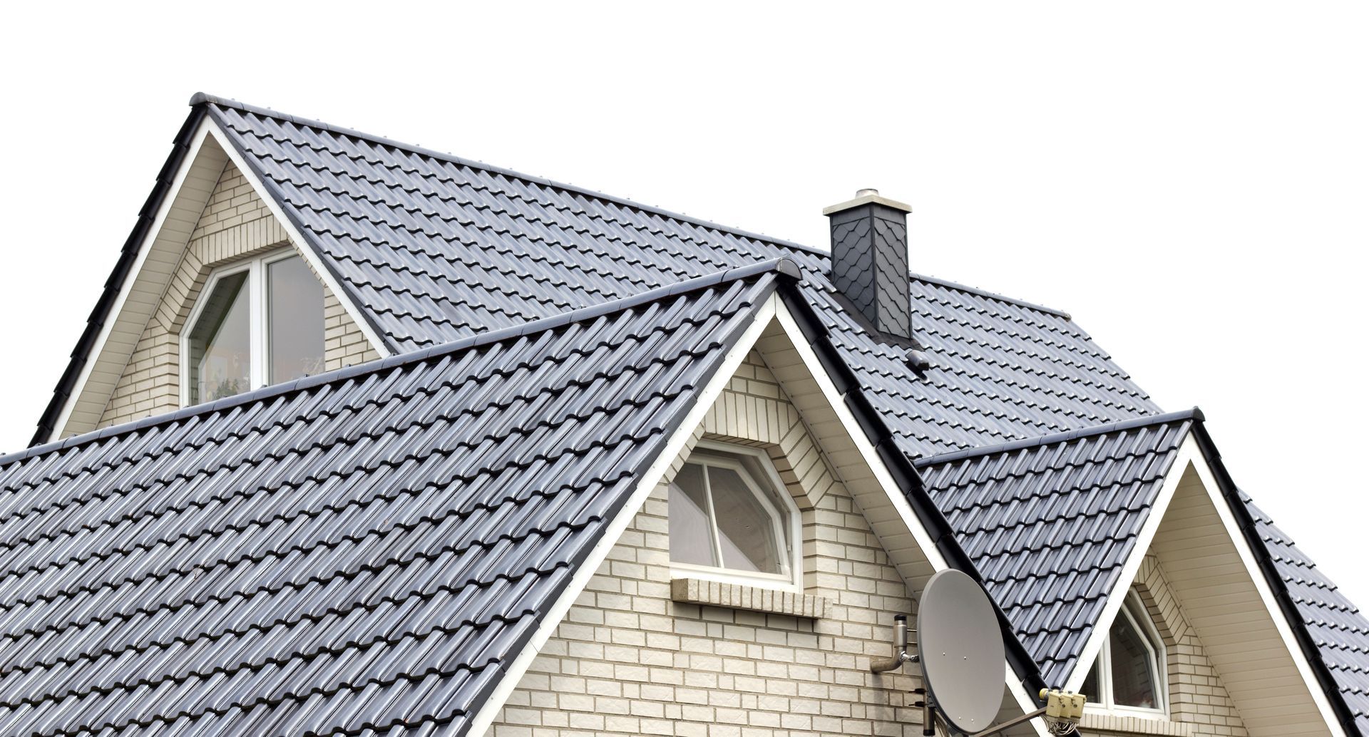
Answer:
[[(73, 381), (74, 397), (52, 420), (60, 438), (179, 409), (179, 338), (208, 275), (277, 249), (304, 254), (216, 142), (212, 123), (200, 123), (185, 146), (159, 217), (148, 219), (145, 241), (120, 261), (123, 284), (101, 320), (104, 339), (82, 366), (84, 380)], [(378, 358), (327, 279), (323, 294), (324, 368)]]

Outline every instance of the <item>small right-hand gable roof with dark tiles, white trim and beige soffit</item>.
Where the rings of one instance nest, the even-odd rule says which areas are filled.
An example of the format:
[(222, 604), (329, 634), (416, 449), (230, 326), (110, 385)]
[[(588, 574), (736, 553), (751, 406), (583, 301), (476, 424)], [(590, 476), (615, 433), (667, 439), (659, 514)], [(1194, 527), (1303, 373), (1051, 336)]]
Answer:
[(1191, 410), (919, 465), (1051, 685), (1082, 686), (1153, 561), (1201, 645), (1202, 663), (1195, 655), (1188, 665), (1210, 665), (1236, 711), (1183, 708), (1175, 719), (1236, 719), (1257, 736), (1342, 734), (1320, 659), (1298, 640), (1302, 622), (1285, 618), (1207, 465), (1220, 457), (1199, 439), (1202, 414)]

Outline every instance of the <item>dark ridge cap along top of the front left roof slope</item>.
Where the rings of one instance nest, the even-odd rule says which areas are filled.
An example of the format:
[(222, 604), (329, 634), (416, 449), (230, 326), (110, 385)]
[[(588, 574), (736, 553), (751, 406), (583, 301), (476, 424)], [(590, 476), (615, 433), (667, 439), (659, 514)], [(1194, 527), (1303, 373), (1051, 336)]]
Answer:
[(490, 343), (498, 343), (501, 340), (508, 340), (512, 338), (520, 338), (524, 335), (531, 335), (537, 332), (545, 332), (549, 330), (556, 330), (561, 327), (571, 325), (574, 323), (583, 323), (587, 320), (594, 320), (605, 314), (612, 314), (615, 312), (623, 312), (660, 299), (667, 299), (671, 297), (679, 297), (691, 291), (698, 291), (709, 289), (726, 282), (737, 282), (741, 279), (749, 279), (752, 276), (758, 276), (768, 272), (776, 272), (779, 276), (798, 280), (802, 278), (802, 269), (789, 257), (768, 258), (765, 261), (757, 261), (754, 264), (747, 264), (745, 267), (735, 267), (724, 271), (717, 271), (713, 273), (706, 273), (704, 276), (695, 276), (694, 279), (686, 279), (684, 282), (678, 282), (674, 284), (667, 284), (663, 287), (656, 287), (631, 297), (624, 297), (622, 299), (613, 299), (609, 302), (602, 302), (598, 305), (591, 305), (586, 308), (574, 309), (570, 312), (563, 312), (553, 314), (550, 317), (542, 317), (539, 320), (533, 320), (523, 323), (520, 325), (509, 325), (507, 328), (479, 332), (471, 335), (470, 338), (463, 338), (460, 340), (452, 340), (449, 343), (438, 343), (420, 350), (413, 350), (408, 353), (400, 353), (390, 356), (387, 358), (381, 358), (376, 361), (367, 361), (364, 364), (356, 364), (352, 366), (344, 366), (340, 369), (318, 373), (314, 376), (305, 376), (303, 379), (296, 379), (294, 381), (285, 381), (281, 384), (271, 384), (267, 387), (257, 388), (255, 391), (246, 391), (242, 394), (235, 394), (233, 397), (225, 397), (215, 402), (205, 402), (203, 405), (193, 405), (189, 407), (182, 407), (175, 412), (168, 412), (163, 414), (153, 414), (151, 417), (144, 417), (141, 420), (130, 420), (127, 423), (120, 423), (116, 425), (110, 425), (107, 428), (94, 429), (81, 435), (73, 435), (64, 440), (55, 440), (51, 443), (44, 443), (41, 446), (27, 447), (21, 451), (0, 455), (0, 468), (10, 464), (25, 461), (37, 455), (44, 455), (47, 453), (66, 450), (84, 443), (90, 443), (94, 440), (103, 440), (105, 438), (112, 438), (115, 435), (122, 435), (126, 432), (136, 432), (152, 425), (159, 425), (163, 423), (174, 423), (178, 420), (185, 420), (188, 417), (194, 417), (197, 414), (211, 414), (225, 409), (235, 407), (240, 405), (246, 405), (252, 402), (260, 402), (263, 399), (279, 397), (283, 394), (290, 394), (300, 390), (314, 388), (323, 384), (330, 384), (334, 381), (342, 381), (366, 373), (372, 373), (378, 371), (390, 369), (394, 366), (401, 366), (407, 364), (416, 364), (422, 361), (428, 361), (438, 356), (446, 356), (450, 353), (457, 353), (468, 350), (478, 346), (486, 346)]

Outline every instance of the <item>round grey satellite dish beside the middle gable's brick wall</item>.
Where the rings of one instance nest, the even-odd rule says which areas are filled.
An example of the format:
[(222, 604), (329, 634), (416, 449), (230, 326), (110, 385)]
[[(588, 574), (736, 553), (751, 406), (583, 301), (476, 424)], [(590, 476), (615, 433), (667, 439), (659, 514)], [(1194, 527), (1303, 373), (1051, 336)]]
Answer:
[(950, 726), (988, 729), (1003, 701), (1003, 634), (983, 587), (953, 569), (938, 572), (917, 604), (923, 684)]

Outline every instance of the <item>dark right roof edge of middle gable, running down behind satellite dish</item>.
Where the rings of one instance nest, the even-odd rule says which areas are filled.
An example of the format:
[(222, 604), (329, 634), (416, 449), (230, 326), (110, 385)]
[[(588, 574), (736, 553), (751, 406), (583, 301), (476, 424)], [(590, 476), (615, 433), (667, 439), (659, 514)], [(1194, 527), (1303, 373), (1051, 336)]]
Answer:
[[(861, 427), (865, 433), (865, 440), (875, 446), (875, 451), (879, 454), (880, 459), (884, 462), (888, 474), (893, 477), (894, 483), (898, 484), (899, 491), (904, 492), (904, 498), (908, 500), (909, 506), (913, 507), (913, 514), (917, 515), (919, 522), (932, 537), (932, 544), (936, 550), (946, 558), (946, 563), (950, 567), (965, 573), (971, 578), (984, 585), (983, 576), (979, 574), (979, 569), (975, 567), (973, 561), (965, 554), (965, 550), (956, 540), (956, 535), (951, 531), (950, 522), (946, 521), (946, 515), (942, 514), (941, 509), (936, 507), (931, 496), (927, 494), (923, 485), (923, 479), (917, 473), (917, 468), (913, 465), (912, 459), (905, 455), (898, 446), (894, 443), (893, 436), (884, 427), (880, 418), (879, 410), (869, 403), (869, 399), (860, 391), (860, 380), (856, 377), (852, 368), (842, 360), (832, 343), (827, 328), (823, 327), (821, 320), (817, 317), (813, 306), (808, 304), (804, 295), (798, 291), (798, 287), (790, 283), (780, 284), (780, 294), (784, 297), (784, 302), (791, 308), (790, 312), (794, 314), (794, 321), (798, 324), (799, 332), (802, 332), (804, 339), (808, 340), (809, 347), (817, 354), (817, 360), (823, 364), (823, 369), (831, 379), (836, 391), (842, 394), (846, 406), (852, 410), (856, 423)], [(998, 614), (998, 626), (1003, 633), (1003, 644), (1008, 651), (1008, 662), (1013, 669), (1013, 673), (1021, 680), (1021, 685), (1027, 689), (1028, 696), (1040, 703), (1036, 693), (1046, 688), (1046, 680), (1040, 674), (1040, 669), (1036, 662), (1023, 647), (1021, 641), (1017, 639), (1016, 632), (1013, 632), (1012, 624), (1008, 621), (1008, 615), (1003, 610), (994, 603), (994, 611)]]

